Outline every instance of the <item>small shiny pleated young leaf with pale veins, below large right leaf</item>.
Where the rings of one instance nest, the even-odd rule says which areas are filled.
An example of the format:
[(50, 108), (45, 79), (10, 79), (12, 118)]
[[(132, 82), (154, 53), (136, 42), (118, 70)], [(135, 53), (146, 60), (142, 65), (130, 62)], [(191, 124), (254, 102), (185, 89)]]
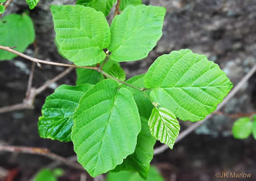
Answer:
[(173, 149), (175, 139), (179, 134), (179, 122), (175, 115), (165, 108), (154, 108), (148, 120), (151, 134), (161, 143)]

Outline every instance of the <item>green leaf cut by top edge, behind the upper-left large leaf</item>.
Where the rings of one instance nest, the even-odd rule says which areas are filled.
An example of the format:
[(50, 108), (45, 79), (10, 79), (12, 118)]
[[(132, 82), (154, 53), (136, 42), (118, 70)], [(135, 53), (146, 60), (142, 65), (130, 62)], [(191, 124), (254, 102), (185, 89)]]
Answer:
[(109, 15), (115, 1), (116, 0), (78, 0), (77, 4), (94, 8), (96, 11), (101, 11), (105, 16), (107, 16)]

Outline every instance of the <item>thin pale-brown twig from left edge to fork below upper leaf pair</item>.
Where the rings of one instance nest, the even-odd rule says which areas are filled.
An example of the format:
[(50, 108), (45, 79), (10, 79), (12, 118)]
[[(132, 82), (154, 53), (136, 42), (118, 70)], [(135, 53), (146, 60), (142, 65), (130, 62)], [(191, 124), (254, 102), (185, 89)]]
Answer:
[(42, 64), (49, 64), (49, 65), (56, 65), (56, 66), (63, 66), (63, 67), (74, 67), (74, 68), (83, 68), (83, 69), (92, 69), (92, 70), (97, 70), (97, 67), (89, 67), (89, 66), (76, 66), (76, 65), (72, 65), (72, 64), (64, 64), (64, 63), (57, 63), (57, 62), (49, 62), (49, 61), (45, 61), (45, 60), (40, 60), (38, 58), (33, 58), (31, 56), (27, 56), (25, 54), (22, 54), (20, 52), (17, 52), (16, 50), (11, 49), (8, 46), (1, 46), (0, 45), (0, 49), (2, 50), (6, 50), (8, 52), (11, 52), (13, 54), (16, 54), (18, 56), (21, 56), (23, 58), (26, 58), (28, 60), (31, 60), (32, 62), (37, 62), (37, 63), (42, 63)]

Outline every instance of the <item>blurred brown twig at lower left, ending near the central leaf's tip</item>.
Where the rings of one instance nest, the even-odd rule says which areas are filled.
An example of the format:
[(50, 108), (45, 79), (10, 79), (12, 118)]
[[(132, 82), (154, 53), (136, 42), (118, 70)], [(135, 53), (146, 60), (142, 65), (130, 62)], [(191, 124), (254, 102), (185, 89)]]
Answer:
[(58, 162), (64, 163), (66, 166), (73, 167), (76, 169), (84, 170), (84, 168), (78, 164), (73, 163), (67, 160), (66, 158), (57, 155), (55, 153), (51, 153), (46, 148), (38, 148), (38, 147), (19, 147), (19, 146), (2, 146), (0, 145), (0, 151), (13, 152), (13, 153), (28, 153), (28, 154), (38, 154), (46, 156), (52, 160), (57, 160)]

